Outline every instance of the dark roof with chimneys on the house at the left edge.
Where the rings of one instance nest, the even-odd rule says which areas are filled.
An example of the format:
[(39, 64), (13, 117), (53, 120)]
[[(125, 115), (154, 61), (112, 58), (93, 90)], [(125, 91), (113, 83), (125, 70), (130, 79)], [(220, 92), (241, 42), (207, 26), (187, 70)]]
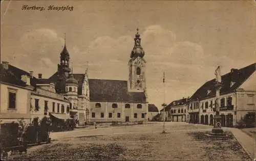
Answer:
[[(30, 76), (30, 74), (22, 69), (8, 64), (8, 70), (1, 64), (1, 82), (8, 83), (16, 86), (26, 87), (26, 83), (22, 81), (22, 75)], [(33, 76), (30, 79), (30, 85), (36, 86), (37, 78)]]

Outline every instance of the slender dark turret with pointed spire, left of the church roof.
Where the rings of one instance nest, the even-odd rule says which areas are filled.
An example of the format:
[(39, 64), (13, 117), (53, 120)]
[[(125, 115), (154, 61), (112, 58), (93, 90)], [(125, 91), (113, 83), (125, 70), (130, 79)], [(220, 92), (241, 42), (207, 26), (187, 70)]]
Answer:
[(58, 76), (60, 79), (66, 79), (69, 76), (70, 73), (70, 67), (69, 67), (69, 51), (66, 47), (66, 34), (65, 34), (65, 45), (63, 50), (60, 53), (60, 64), (58, 64)]

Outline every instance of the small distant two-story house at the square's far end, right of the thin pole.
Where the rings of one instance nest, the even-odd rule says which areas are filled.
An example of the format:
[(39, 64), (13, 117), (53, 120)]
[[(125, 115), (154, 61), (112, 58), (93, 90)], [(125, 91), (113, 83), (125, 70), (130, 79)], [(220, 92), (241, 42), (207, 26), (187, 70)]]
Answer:
[(172, 121), (186, 122), (186, 103), (187, 98), (182, 98), (171, 102), (168, 115)]

